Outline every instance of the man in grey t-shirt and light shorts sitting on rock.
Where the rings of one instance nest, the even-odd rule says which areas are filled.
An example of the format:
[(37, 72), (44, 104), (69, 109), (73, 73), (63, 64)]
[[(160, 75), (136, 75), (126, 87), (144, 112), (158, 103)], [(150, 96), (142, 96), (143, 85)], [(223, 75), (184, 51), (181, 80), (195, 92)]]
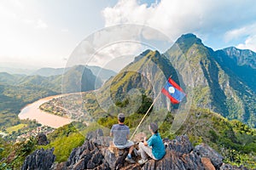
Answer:
[(135, 163), (135, 161), (131, 158), (131, 152), (133, 150), (133, 142), (128, 140), (130, 129), (127, 127), (125, 122), (125, 114), (119, 113), (118, 115), (119, 124), (114, 124), (110, 130), (110, 136), (113, 136), (113, 144), (118, 149), (129, 148), (128, 156), (125, 158), (125, 161), (130, 163)]

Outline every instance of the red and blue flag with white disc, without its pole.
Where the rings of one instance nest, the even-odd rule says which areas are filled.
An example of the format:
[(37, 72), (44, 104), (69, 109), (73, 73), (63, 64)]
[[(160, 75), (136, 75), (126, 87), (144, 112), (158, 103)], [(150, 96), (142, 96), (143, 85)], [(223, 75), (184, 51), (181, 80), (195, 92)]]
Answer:
[(183, 89), (171, 78), (168, 78), (165, 87), (162, 88), (162, 93), (171, 100), (172, 104), (178, 104), (186, 96)]

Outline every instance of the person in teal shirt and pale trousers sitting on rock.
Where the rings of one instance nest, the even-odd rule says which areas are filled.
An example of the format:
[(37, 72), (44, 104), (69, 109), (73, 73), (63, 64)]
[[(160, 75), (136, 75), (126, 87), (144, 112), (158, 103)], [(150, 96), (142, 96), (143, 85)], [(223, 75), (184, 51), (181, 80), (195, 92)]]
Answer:
[(139, 143), (139, 150), (137, 151), (142, 156), (142, 159), (138, 161), (141, 165), (148, 161), (148, 156), (154, 160), (160, 160), (166, 155), (166, 147), (165, 144), (163, 144), (160, 133), (158, 133), (157, 124), (151, 122), (148, 129), (152, 136), (148, 141), (145, 137), (144, 141)]

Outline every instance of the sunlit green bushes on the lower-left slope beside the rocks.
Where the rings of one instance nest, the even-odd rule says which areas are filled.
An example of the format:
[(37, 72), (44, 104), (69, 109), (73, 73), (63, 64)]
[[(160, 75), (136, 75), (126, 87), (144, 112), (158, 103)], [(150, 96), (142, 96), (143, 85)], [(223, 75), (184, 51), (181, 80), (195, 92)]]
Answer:
[[(50, 143), (45, 146), (38, 145), (33, 137), (15, 144), (9, 142), (9, 139), (0, 138), (0, 160), (2, 160), (0, 161), (0, 169), (19, 169), (26, 156), (31, 154), (32, 151), (41, 148), (51, 149), (54, 147), (55, 161), (67, 161), (73, 148), (82, 145), (85, 135), (97, 128), (104, 130), (104, 127), (98, 124), (91, 124), (89, 127), (86, 127), (83, 123), (72, 122), (55, 129), (53, 133), (49, 133), (48, 140)], [(104, 130), (104, 132), (106, 133), (107, 131)]]

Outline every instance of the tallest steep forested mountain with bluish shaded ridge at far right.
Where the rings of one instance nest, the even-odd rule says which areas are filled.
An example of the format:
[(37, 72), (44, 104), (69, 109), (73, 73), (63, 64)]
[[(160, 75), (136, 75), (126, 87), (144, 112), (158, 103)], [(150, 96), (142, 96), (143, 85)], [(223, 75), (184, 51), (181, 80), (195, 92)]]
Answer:
[(255, 53), (237, 48), (213, 51), (195, 35), (186, 34), (165, 55), (183, 79), (191, 72), (195, 106), (256, 126)]

